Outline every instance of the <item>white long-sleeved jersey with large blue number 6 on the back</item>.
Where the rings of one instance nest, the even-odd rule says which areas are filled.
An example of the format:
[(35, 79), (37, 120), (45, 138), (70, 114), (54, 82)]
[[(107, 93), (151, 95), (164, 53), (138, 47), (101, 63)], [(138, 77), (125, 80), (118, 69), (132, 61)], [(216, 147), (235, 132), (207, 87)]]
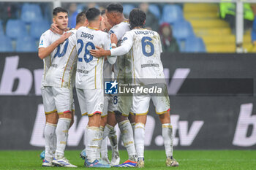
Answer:
[(128, 53), (127, 55), (131, 56), (133, 82), (154, 84), (156, 82), (153, 80), (165, 79), (160, 58), (162, 45), (156, 31), (143, 28), (127, 31), (122, 38), (121, 46), (110, 51), (111, 55)]

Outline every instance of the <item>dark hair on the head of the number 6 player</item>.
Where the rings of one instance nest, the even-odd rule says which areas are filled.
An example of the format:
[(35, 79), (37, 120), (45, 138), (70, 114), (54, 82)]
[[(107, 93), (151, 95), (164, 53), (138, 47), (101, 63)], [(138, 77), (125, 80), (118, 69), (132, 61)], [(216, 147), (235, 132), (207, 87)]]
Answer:
[(135, 8), (129, 12), (129, 25), (133, 29), (135, 27), (144, 27), (146, 20), (146, 13), (141, 9)]

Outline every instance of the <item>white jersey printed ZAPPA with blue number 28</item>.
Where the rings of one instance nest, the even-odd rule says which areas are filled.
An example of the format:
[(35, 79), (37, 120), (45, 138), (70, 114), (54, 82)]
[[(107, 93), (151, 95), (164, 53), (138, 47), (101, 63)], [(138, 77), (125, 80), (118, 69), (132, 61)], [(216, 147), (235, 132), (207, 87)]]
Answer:
[(103, 85), (104, 58), (95, 58), (90, 54), (96, 46), (110, 50), (110, 38), (107, 33), (95, 28), (81, 27), (76, 33), (78, 50), (78, 69), (75, 87), (80, 89), (97, 89)]

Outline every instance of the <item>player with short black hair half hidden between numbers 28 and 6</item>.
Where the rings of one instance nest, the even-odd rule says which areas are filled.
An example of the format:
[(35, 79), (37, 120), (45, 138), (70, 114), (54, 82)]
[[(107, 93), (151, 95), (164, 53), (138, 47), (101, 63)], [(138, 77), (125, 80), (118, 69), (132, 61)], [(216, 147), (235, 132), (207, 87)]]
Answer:
[[(123, 7), (121, 4), (112, 3), (109, 4), (106, 10), (106, 16), (108, 18), (108, 22), (113, 26), (109, 34), (116, 34), (119, 42), (121, 42), (121, 37), (124, 36), (126, 31), (129, 31), (129, 23), (127, 19), (124, 18)], [(119, 44), (118, 44), (119, 45)], [(131, 63), (129, 61), (130, 58), (126, 56), (118, 56), (116, 63), (114, 64), (114, 74), (115, 80), (122, 83), (129, 83), (132, 80), (131, 73)], [(121, 167), (126, 166), (135, 166), (137, 162), (137, 154), (135, 150), (134, 138), (132, 125), (128, 120), (129, 111), (132, 105), (132, 97), (131, 96), (113, 96), (116, 100), (116, 111), (115, 117), (113, 114), (109, 114), (110, 117), (108, 119), (108, 123), (105, 126), (103, 138), (111, 134), (110, 131), (113, 131), (116, 121), (118, 122), (118, 126), (121, 131), (121, 139), (124, 143), (124, 147), (126, 147), (129, 160), (122, 163)]]

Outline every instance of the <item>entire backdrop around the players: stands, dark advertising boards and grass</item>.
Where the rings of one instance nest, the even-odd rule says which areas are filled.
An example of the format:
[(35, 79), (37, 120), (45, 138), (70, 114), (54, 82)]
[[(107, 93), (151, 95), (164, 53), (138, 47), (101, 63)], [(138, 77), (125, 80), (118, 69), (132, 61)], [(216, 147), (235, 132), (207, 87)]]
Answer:
[[(3, 150), (37, 150), (38, 155), (43, 150), (42, 61), (37, 57), (37, 46), (39, 36), (50, 27), (52, 9), (59, 6), (68, 9), (72, 28), (78, 12), (89, 7), (104, 9), (110, 2), (113, 1), (0, 0), (0, 161), (8, 156)], [(211, 152), (195, 158), (193, 152), (181, 150), (252, 150), (255, 153), (256, 0), (118, 2), (123, 4), (126, 16), (134, 7), (145, 10), (146, 26), (162, 36), (174, 149), (178, 150), (181, 163), (208, 169), (209, 160), (218, 162), (207, 160)], [(223, 17), (224, 14), (230, 18)], [(67, 150), (83, 149), (86, 137), (84, 128), (88, 118), (80, 117), (76, 96), (75, 103), (75, 123), (69, 131)], [(154, 107), (150, 107), (146, 150), (163, 150), (159, 124)], [(124, 149), (121, 142), (120, 148)], [(213, 154), (218, 157), (222, 153)], [(252, 152), (248, 157), (239, 157), (243, 154), (246, 155), (230, 152), (238, 157), (221, 159), (227, 162), (233, 159), (230, 164), (239, 162), (249, 166), (237, 166), (238, 169), (253, 169), (256, 160)], [(12, 160), (12, 154), (9, 156)], [(199, 162), (204, 166), (197, 166)], [(211, 166), (217, 169), (218, 164)], [(189, 164), (185, 168), (189, 169)], [(8, 169), (8, 165), (0, 169)]]

